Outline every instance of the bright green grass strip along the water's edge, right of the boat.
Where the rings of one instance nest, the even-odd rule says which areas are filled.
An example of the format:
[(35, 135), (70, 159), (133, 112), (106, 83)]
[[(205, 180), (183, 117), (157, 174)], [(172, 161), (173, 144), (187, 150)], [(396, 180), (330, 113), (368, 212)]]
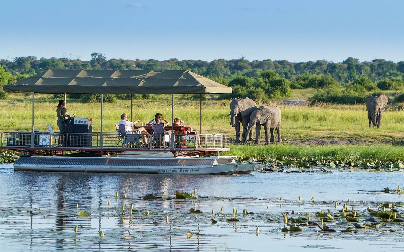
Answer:
[(335, 160), (358, 160), (361, 158), (404, 160), (404, 147), (389, 144), (348, 146), (296, 146), (292, 144), (272, 144), (271, 146), (232, 145), (226, 155), (260, 158), (288, 156), (293, 158), (329, 158)]

